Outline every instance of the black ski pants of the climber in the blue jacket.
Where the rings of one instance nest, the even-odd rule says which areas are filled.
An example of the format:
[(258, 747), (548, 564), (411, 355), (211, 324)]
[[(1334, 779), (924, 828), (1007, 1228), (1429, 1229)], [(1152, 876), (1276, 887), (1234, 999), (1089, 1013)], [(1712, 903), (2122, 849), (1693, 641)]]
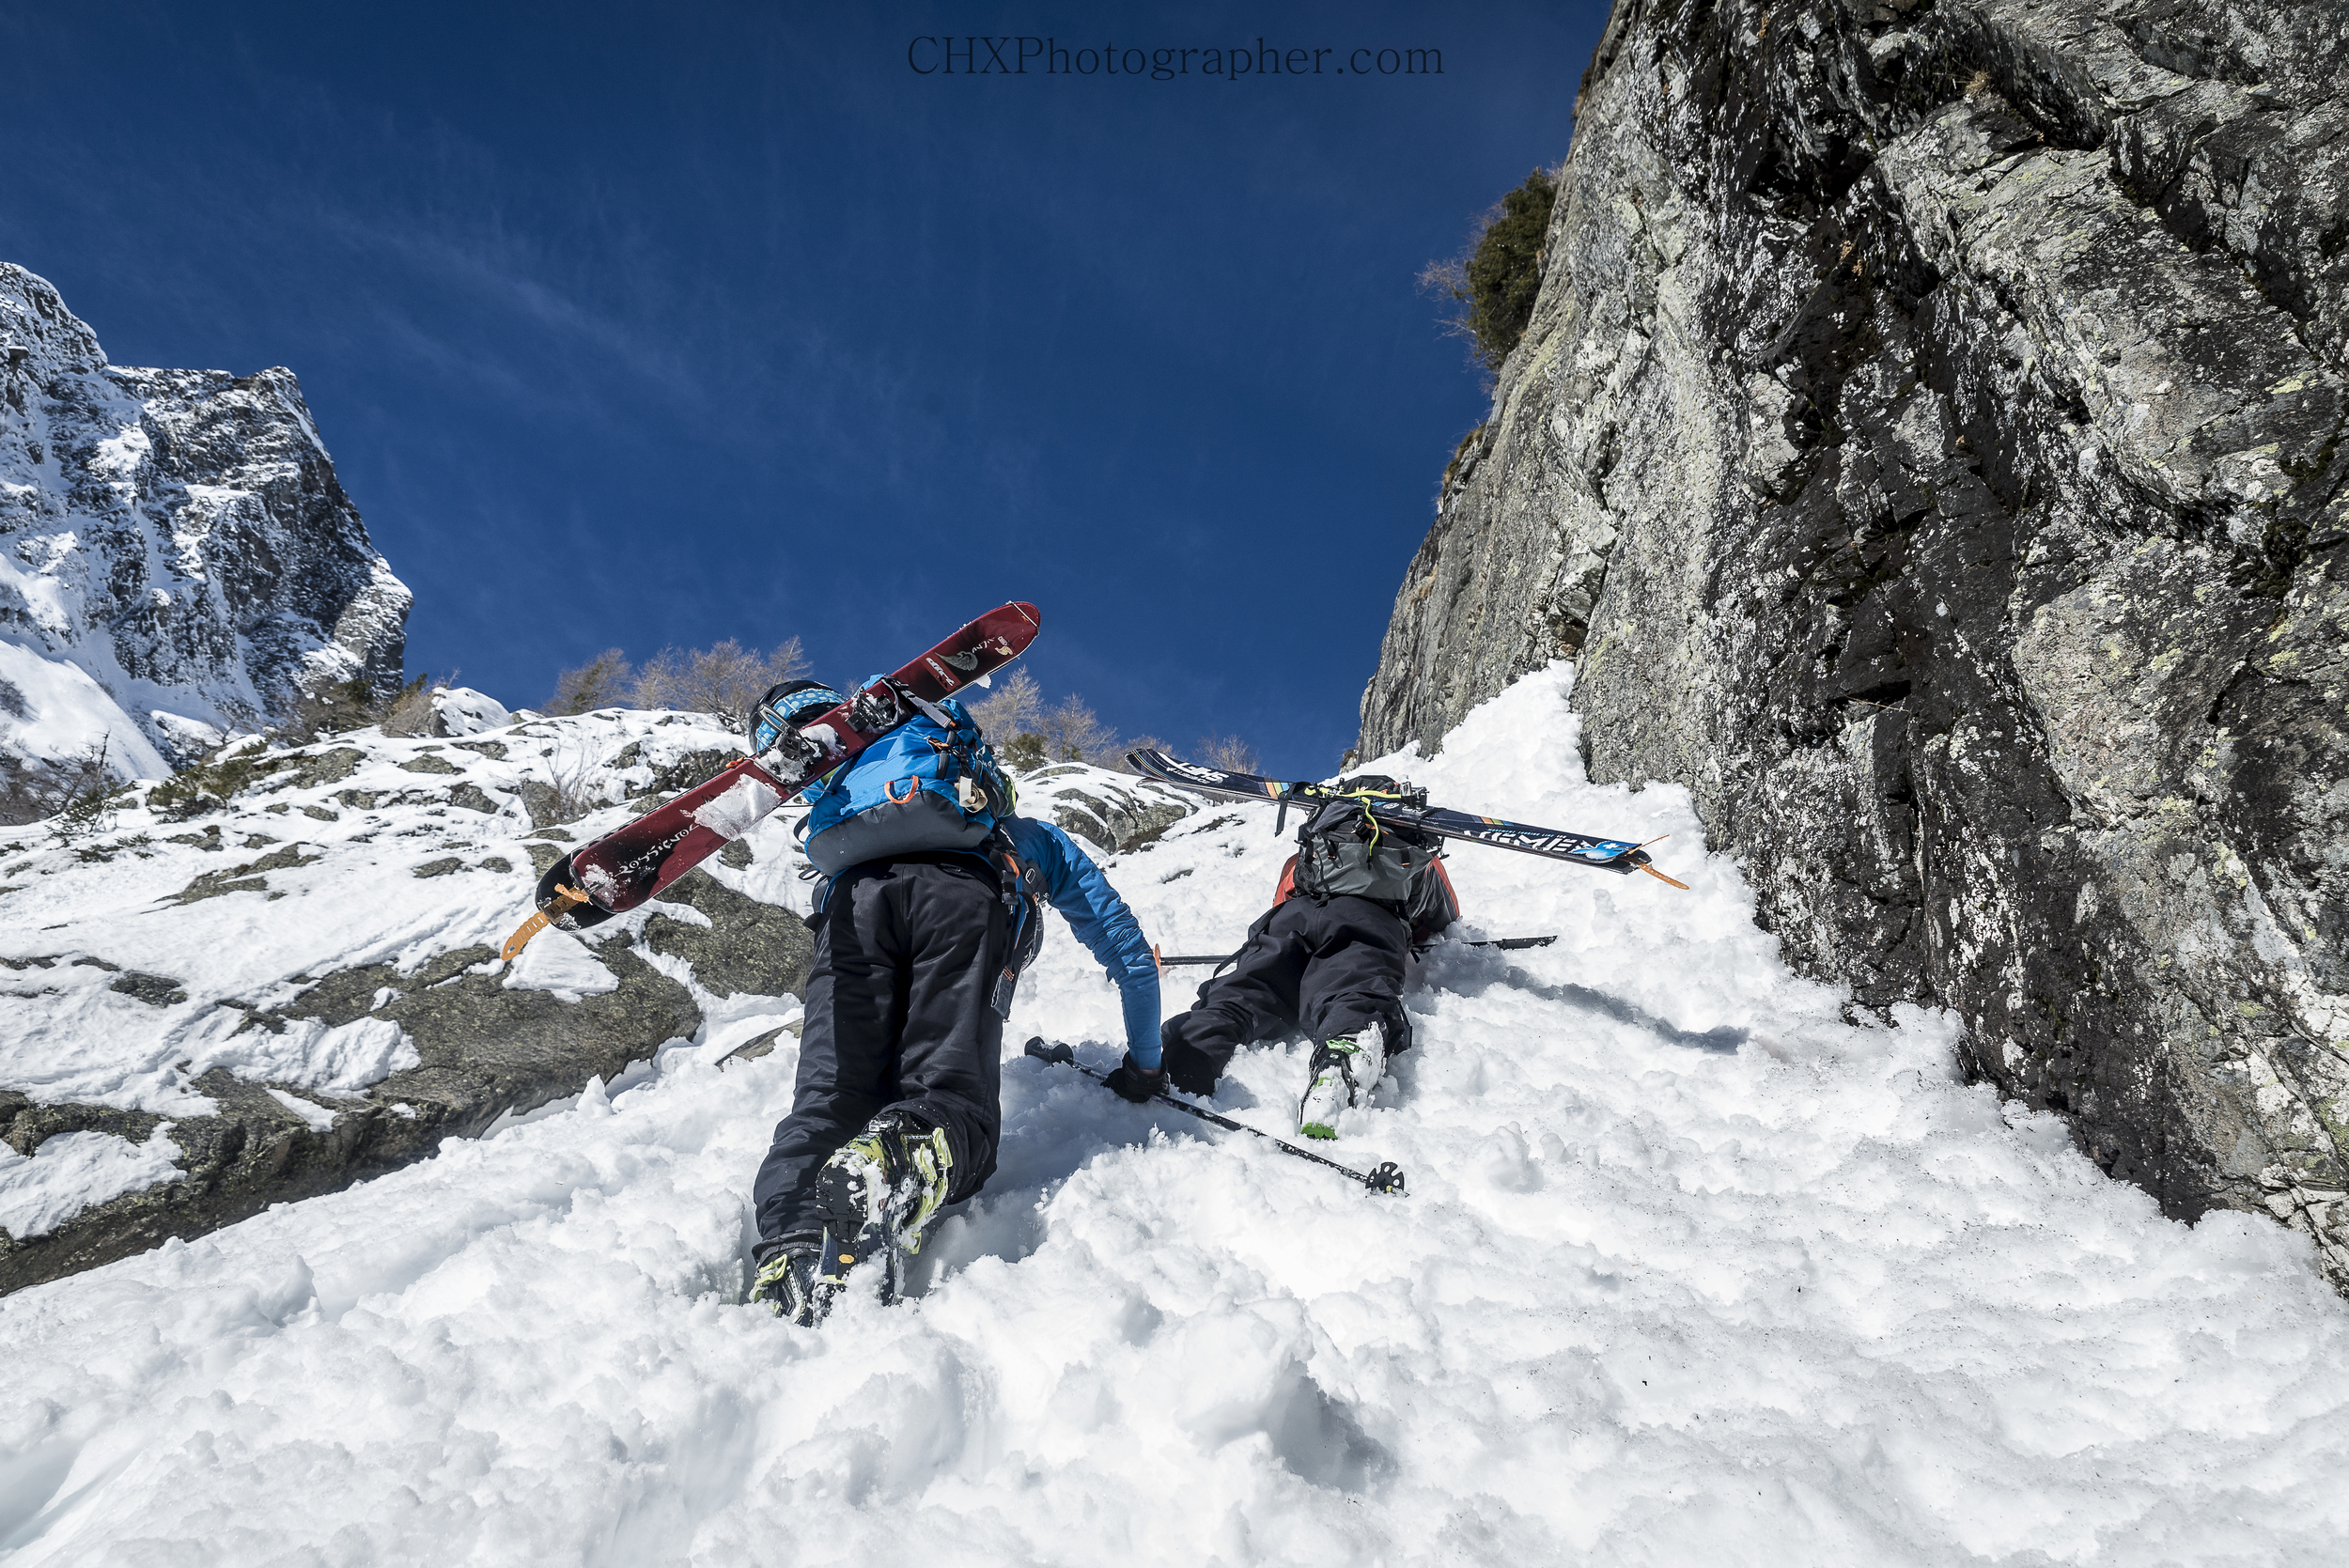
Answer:
[(813, 1239), (817, 1171), (888, 1108), (947, 1129), (949, 1202), (994, 1176), (1003, 1129), (994, 984), (1005, 932), (994, 871), (968, 854), (867, 861), (832, 883), (815, 925), (792, 1115), (775, 1124), (752, 1188), (761, 1251)]

